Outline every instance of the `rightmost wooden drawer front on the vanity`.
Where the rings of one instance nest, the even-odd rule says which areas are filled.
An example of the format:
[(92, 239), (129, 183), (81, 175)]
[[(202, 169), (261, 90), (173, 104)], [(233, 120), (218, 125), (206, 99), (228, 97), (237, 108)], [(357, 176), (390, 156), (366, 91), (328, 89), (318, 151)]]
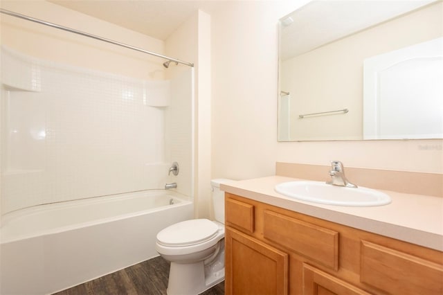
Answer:
[(360, 280), (390, 294), (443, 294), (443, 265), (361, 241)]

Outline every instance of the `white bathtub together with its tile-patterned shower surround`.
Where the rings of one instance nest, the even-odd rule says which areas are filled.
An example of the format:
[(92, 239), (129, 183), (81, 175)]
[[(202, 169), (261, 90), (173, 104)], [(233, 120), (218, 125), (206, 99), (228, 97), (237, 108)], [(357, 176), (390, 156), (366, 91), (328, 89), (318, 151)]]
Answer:
[[(0, 247), (10, 262), (8, 267), (2, 264), (1, 292), (23, 291), (17, 276), (28, 263), (35, 265), (28, 269), (28, 277), (36, 278), (28, 287), (45, 294), (156, 256), (156, 232), (193, 217), (192, 68), (171, 80), (140, 80), (39, 60), (6, 47), (1, 50)], [(168, 176), (172, 161), (180, 164), (177, 176)], [(177, 193), (184, 196), (172, 206), (166, 205), (176, 192), (163, 190), (166, 182), (177, 182)], [(120, 207), (130, 208), (125, 202), (134, 199), (130, 192), (140, 192), (146, 206), (119, 213)], [(123, 202), (114, 202), (116, 195)], [(162, 201), (152, 205), (150, 198)], [(59, 211), (71, 204), (81, 206), (75, 205), (72, 214)], [(37, 211), (42, 218), (30, 221), (28, 217)], [(80, 217), (89, 211), (111, 215), (91, 215), (85, 223)], [(51, 230), (37, 226), (21, 235), (15, 232), (17, 218), (49, 225)], [(66, 222), (69, 226), (63, 226)], [(127, 243), (124, 237), (129, 232), (132, 240)], [(116, 246), (118, 251), (101, 255), (100, 247), (84, 249), (88, 246), (84, 242), (74, 247), (73, 239), (102, 248), (115, 246), (117, 240), (123, 244)], [(14, 249), (30, 256), (24, 259)], [(102, 258), (89, 265), (91, 276), (73, 281), (69, 278), (75, 275), (68, 272), (57, 278), (61, 284), (54, 285), (50, 277), (38, 279), (38, 274), (48, 271), (39, 266), (51, 265), (57, 258), (51, 252), (78, 256), (69, 260), (70, 265), (55, 265), (55, 274), (64, 268), (83, 274), (82, 263), (76, 262), (89, 261), (89, 256)], [(137, 255), (128, 259), (124, 253)], [(111, 256), (115, 262), (107, 263)], [(18, 289), (12, 282), (19, 282)]]

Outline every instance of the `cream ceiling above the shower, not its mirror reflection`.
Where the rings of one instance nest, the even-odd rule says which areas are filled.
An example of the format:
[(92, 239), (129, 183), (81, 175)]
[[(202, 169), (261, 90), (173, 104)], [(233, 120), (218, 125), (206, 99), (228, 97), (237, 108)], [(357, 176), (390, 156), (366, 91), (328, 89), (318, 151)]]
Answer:
[(103, 21), (165, 40), (197, 10), (210, 14), (221, 0), (48, 0)]

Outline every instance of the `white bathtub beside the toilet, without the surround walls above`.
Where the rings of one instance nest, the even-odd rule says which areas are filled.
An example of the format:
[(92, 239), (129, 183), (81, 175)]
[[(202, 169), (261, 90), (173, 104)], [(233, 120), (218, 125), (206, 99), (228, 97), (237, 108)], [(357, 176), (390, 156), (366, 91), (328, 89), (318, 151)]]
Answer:
[(0, 229), (0, 294), (51, 294), (148, 260), (161, 229), (194, 217), (167, 190), (47, 204), (8, 213)]

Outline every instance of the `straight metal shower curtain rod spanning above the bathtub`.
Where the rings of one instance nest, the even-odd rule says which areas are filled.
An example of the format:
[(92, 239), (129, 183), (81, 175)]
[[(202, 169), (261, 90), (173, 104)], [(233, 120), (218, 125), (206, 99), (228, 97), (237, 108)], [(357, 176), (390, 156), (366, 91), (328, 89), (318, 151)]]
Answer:
[(28, 17), (27, 15), (21, 15), (21, 14), (19, 14), (17, 12), (13, 12), (13, 11), (6, 10), (6, 9), (3, 9), (3, 8), (0, 8), (0, 12), (4, 13), (5, 15), (10, 15), (12, 17), (19, 17), (20, 19), (26, 19), (28, 21), (34, 21), (35, 23), (38, 23), (38, 24), (43, 24), (43, 25), (46, 25), (46, 26), (51, 26), (53, 28), (58, 28), (60, 30), (66, 30), (68, 32), (75, 33), (75, 34), (78, 34), (78, 35), (82, 35), (82, 36), (85, 36), (85, 37), (90, 37), (90, 38), (97, 39), (97, 40), (100, 40), (100, 41), (103, 41), (103, 42), (108, 42), (108, 43), (111, 43), (111, 44), (114, 44), (114, 45), (118, 45), (118, 46), (122, 46), (122, 47), (125, 47), (125, 48), (129, 48), (129, 49), (132, 49), (132, 50), (135, 50), (135, 51), (140, 51), (140, 52), (143, 52), (143, 53), (154, 55), (156, 57), (161, 57), (161, 58), (164, 58), (165, 60), (170, 60), (172, 62), (178, 62), (179, 64), (185, 64), (186, 66), (194, 66), (194, 64), (192, 64), (191, 62), (183, 62), (182, 60), (177, 60), (176, 58), (168, 57), (166, 55), (161, 55), (159, 53), (154, 53), (152, 51), (146, 51), (144, 49), (141, 49), (141, 48), (138, 48), (138, 47), (135, 47), (135, 46), (131, 46), (131, 45), (127, 45), (127, 44), (124, 44), (124, 43), (116, 42), (114, 40), (107, 39), (107, 38), (104, 38), (104, 37), (100, 37), (100, 36), (97, 36), (97, 35), (92, 35), (92, 34), (89, 34), (89, 33), (84, 33), (81, 30), (75, 30), (73, 28), (67, 28), (66, 26), (60, 26), (60, 25), (57, 25), (57, 24), (50, 23), (48, 21), (42, 21), (41, 19), (35, 19), (34, 17)]

